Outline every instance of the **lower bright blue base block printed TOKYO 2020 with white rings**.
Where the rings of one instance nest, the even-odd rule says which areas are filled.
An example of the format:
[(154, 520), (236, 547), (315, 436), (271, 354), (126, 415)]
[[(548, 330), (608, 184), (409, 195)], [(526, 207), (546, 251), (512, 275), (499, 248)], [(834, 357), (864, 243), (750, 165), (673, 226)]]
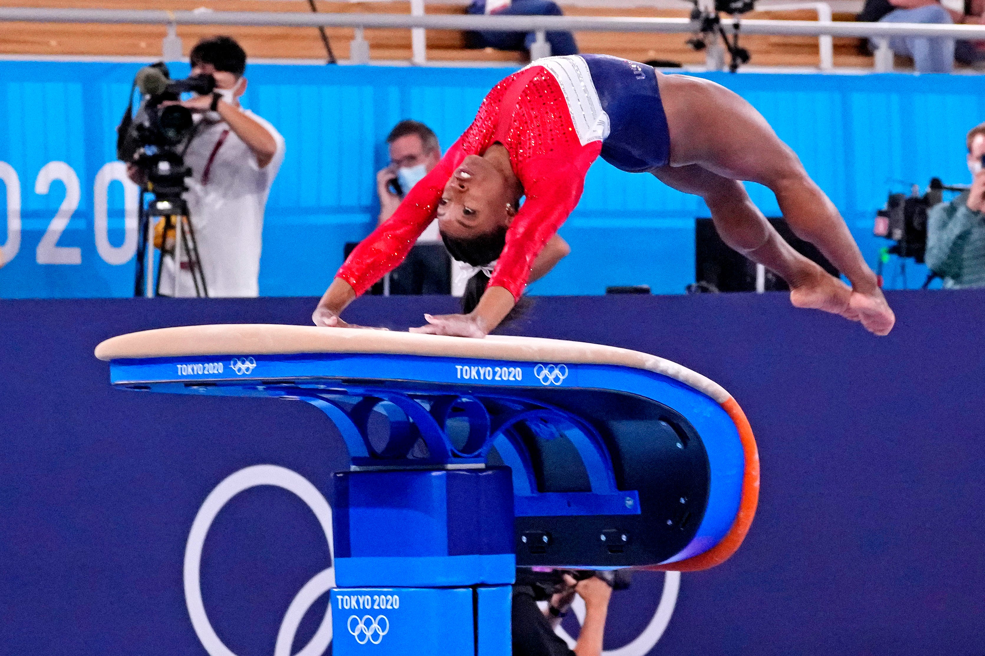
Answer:
[(332, 653), (508, 656), (511, 593), (509, 585), (336, 588), (330, 597)]

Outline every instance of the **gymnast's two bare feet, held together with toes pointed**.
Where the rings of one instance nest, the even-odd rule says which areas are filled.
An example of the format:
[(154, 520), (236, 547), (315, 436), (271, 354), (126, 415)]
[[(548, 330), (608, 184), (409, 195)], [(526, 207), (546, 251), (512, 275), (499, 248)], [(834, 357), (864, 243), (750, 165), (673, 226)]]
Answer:
[(790, 302), (796, 307), (820, 309), (860, 321), (866, 330), (876, 335), (888, 334), (896, 321), (878, 287), (868, 293), (854, 291), (818, 265), (814, 265), (803, 282), (791, 285)]

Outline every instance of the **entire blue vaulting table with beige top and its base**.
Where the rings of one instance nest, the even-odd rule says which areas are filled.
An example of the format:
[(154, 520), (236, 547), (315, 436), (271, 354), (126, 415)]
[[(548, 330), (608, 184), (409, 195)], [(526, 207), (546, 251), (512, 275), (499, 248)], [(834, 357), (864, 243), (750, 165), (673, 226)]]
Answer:
[(121, 335), (96, 355), (119, 388), (303, 401), (338, 429), (336, 656), (508, 656), (517, 566), (704, 569), (755, 514), (742, 409), (655, 356), (249, 324)]

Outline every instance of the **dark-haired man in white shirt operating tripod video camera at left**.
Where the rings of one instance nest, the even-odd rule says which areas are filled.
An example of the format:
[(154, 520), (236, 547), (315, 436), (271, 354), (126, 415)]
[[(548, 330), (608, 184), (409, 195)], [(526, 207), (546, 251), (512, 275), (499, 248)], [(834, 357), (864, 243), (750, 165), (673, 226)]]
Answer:
[[(246, 91), (246, 53), (230, 36), (212, 36), (190, 53), (191, 74), (210, 75), (215, 91), (182, 100), (196, 126), (184, 146), (188, 214), (210, 296), (259, 295), (261, 234), (267, 195), (284, 160), (284, 138), (269, 122), (239, 105)], [(170, 102), (171, 104), (175, 102)], [(167, 103), (164, 103), (167, 104)], [(137, 184), (144, 171), (127, 165)], [(190, 264), (165, 256), (160, 273), (164, 295), (196, 295)]]

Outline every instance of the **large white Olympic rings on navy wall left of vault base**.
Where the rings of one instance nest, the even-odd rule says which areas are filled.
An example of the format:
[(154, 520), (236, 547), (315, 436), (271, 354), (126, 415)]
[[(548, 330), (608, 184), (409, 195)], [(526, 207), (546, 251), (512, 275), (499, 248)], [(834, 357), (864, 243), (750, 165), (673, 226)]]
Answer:
[[(304, 501), (321, 525), (321, 530), (328, 543), (329, 556), (332, 555), (332, 508), (321, 492), (318, 492), (300, 474), (277, 465), (255, 465), (239, 470), (216, 486), (216, 489), (205, 498), (198, 514), (195, 515), (195, 521), (192, 522), (191, 531), (188, 533), (188, 544), (185, 546), (184, 558), (184, 592), (188, 617), (191, 618), (195, 634), (198, 635), (198, 639), (202, 642), (202, 646), (205, 647), (209, 656), (235, 656), (235, 654), (216, 634), (216, 630), (206, 615), (205, 605), (202, 603), (202, 548), (205, 546), (205, 538), (209, 533), (209, 528), (220, 510), (239, 492), (257, 486), (282, 488), (288, 492), (294, 492)], [(277, 642), (274, 645), (274, 656), (293, 656), (291, 647), (295, 641), (297, 626), (301, 623), (301, 619), (319, 597), (334, 587), (335, 569), (332, 566), (323, 569), (301, 587), (281, 621), (281, 628), (277, 632)], [(322, 618), (311, 640), (294, 656), (321, 656), (325, 653), (332, 641), (331, 611), (332, 607), (329, 605), (325, 611), (325, 617)]]

